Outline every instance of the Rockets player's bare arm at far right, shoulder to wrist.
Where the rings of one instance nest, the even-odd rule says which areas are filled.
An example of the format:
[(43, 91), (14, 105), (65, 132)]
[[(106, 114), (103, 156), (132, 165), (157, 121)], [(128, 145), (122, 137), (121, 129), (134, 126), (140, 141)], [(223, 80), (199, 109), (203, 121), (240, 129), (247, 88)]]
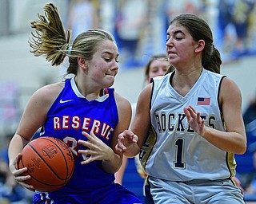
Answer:
[(242, 96), (233, 80), (223, 78), (218, 100), (226, 132), (206, 127), (203, 137), (223, 151), (243, 154), (246, 151), (246, 131), (242, 120)]

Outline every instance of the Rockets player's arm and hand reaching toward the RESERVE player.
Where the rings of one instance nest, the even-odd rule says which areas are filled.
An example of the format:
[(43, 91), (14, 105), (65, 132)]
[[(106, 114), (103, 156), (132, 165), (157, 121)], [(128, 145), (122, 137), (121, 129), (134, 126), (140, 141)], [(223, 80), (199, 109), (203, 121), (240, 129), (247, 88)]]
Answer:
[(123, 151), (127, 157), (138, 155), (146, 139), (146, 133), (150, 128), (150, 97), (152, 86), (153, 84), (147, 85), (138, 96), (136, 113), (130, 125), (130, 130), (123, 131), (118, 135), (116, 149)]

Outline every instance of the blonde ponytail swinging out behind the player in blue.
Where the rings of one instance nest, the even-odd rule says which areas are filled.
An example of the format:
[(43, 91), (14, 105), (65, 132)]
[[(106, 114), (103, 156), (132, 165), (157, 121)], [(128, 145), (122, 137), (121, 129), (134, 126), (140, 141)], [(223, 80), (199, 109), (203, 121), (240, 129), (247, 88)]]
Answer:
[(65, 33), (57, 7), (49, 3), (44, 10), (45, 16), (38, 14), (38, 20), (31, 22), (31, 27), (35, 29), (29, 41), (31, 53), (36, 57), (46, 56), (51, 65), (60, 65), (66, 57), (72, 33), (71, 30)]

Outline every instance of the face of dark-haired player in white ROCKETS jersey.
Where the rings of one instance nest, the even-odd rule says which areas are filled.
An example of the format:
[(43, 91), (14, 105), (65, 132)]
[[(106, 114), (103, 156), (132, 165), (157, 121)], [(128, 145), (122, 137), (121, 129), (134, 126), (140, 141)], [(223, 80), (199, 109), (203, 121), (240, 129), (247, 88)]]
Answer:
[(167, 29), (166, 53), (168, 61), (179, 68), (191, 64), (194, 59), (196, 42), (187, 29), (178, 23), (173, 23)]

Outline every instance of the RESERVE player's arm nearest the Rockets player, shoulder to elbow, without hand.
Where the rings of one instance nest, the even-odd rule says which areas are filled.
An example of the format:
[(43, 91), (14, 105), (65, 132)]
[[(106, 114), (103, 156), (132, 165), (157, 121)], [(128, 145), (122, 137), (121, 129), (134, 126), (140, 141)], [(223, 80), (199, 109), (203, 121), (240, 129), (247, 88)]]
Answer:
[(118, 143), (118, 134), (129, 128), (131, 119), (130, 102), (116, 92), (114, 95), (118, 107), (118, 124), (114, 128), (114, 135), (110, 143), (110, 147), (113, 150), (113, 156), (110, 157), (111, 159), (102, 161), (103, 169), (109, 173), (118, 171), (122, 165), (122, 152), (117, 151), (115, 145)]

